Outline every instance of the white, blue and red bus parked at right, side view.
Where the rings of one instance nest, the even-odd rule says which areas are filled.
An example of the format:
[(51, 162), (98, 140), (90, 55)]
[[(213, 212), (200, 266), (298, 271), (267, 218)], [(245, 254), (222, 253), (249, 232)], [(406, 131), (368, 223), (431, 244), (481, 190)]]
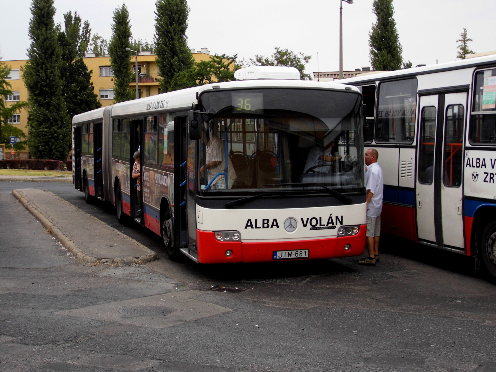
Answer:
[(476, 256), (496, 276), (496, 55), (340, 83), (363, 93), (382, 232)]

